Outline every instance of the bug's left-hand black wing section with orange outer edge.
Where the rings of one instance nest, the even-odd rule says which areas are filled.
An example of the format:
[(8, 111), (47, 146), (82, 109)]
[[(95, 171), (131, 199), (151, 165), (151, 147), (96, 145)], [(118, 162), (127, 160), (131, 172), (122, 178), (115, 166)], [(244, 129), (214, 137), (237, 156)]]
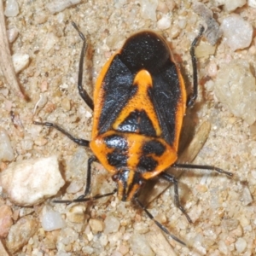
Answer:
[(94, 99), (96, 105), (94, 131), (97, 131), (97, 134), (110, 129), (120, 111), (137, 90), (132, 86), (135, 74), (120, 61), (118, 54), (114, 55), (110, 62), (108, 61), (103, 73), (104, 77), (96, 84), (99, 93)]

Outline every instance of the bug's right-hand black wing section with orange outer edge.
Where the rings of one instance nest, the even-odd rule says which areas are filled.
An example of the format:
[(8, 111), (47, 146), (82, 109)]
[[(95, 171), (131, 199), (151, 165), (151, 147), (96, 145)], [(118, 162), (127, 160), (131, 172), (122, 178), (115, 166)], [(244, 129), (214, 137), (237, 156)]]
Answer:
[(153, 75), (150, 96), (159, 118), (161, 137), (177, 148), (185, 112), (186, 93), (180, 71), (171, 59), (166, 62), (160, 73)]

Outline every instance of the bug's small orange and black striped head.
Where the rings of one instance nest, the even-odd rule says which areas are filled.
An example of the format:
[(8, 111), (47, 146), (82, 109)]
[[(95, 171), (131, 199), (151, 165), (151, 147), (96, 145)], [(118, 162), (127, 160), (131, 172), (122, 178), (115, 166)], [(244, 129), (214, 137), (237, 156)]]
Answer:
[(131, 201), (145, 183), (141, 173), (129, 169), (119, 171), (112, 178), (118, 184), (117, 193), (121, 201)]

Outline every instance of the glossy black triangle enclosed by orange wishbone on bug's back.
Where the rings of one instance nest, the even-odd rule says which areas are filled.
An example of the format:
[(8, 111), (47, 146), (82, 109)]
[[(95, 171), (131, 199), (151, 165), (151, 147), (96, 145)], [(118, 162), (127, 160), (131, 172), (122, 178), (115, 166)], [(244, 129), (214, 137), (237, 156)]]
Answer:
[(155, 137), (156, 132), (148, 114), (145, 110), (135, 110), (131, 112), (127, 118), (119, 125), (118, 131), (133, 132)]

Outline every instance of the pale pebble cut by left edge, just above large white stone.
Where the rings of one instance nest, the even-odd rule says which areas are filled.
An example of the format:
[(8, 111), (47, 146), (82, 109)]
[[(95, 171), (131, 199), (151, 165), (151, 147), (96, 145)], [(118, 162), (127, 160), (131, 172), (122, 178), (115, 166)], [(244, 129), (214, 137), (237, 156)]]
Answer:
[(0, 127), (0, 160), (12, 161), (15, 158), (14, 150), (9, 141), (8, 133)]

